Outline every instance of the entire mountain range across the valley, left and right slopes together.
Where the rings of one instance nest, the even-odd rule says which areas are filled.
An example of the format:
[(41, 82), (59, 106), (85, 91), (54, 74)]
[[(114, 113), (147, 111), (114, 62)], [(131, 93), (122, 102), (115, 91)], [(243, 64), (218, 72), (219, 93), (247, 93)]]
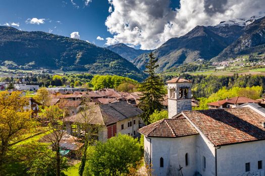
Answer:
[(8, 68), (78, 70), (142, 80), (149, 52), (158, 58), (157, 72), (197, 60), (218, 62), (243, 54), (263, 53), (265, 17), (196, 26), (155, 50), (137, 50), (122, 43), (102, 48), (69, 37), (0, 26), (0, 64)]

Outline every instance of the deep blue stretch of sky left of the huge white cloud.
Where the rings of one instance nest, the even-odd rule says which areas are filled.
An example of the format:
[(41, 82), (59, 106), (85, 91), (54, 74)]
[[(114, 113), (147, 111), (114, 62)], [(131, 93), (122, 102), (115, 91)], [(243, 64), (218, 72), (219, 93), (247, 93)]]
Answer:
[[(111, 37), (104, 25), (109, 15), (110, 4), (107, 0), (94, 0), (85, 6), (84, 1), (75, 0), (8, 0), (0, 1), (0, 24), (19, 23), (15, 28), (25, 31), (44, 31), (70, 37), (72, 32), (79, 32), (82, 40), (95, 42), (102, 46), (104, 41), (96, 40)], [(27, 24), (27, 19), (45, 19), (44, 24)]]

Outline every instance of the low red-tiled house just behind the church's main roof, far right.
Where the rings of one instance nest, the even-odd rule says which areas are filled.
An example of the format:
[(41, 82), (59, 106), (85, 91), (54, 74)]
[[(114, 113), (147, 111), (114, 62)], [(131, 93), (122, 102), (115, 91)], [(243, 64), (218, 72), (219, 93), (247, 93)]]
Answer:
[(245, 103), (259, 103), (256, 100), (252, 100), (246, 97), (233, 97), (217, 102), (208, 103), (209, 109), (222, 109), (222, 108), (235, 108)]

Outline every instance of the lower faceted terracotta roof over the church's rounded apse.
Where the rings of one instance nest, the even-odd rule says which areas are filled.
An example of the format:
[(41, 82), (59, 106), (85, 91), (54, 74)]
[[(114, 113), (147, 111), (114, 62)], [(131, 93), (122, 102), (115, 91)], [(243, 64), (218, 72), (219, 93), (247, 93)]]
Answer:
[(187, 119), (163, 119), (139, 130), (147, 137), (183, 137), (198, 134)]

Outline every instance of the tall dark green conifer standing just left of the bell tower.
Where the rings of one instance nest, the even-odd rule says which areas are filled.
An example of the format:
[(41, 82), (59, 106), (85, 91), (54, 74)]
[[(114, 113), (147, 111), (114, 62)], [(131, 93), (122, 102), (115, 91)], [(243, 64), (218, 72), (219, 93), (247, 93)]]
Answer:
[(157, 59), (153, 57), (153, 53), (149, 54), (149, 62), (145, 63), (148, 77), (140, 84), (139, 91), (142, 92), (141, 99), (139, 103), (140, 109), (143, 110), (141, 118), (146, 125), (150, 124), (149, 116), (153, 114), (155, 110), (161, 111), (163, 105), (161, 104), (163, 100), (164, 92), (164, 82), (162, 78), (154, 73)]

